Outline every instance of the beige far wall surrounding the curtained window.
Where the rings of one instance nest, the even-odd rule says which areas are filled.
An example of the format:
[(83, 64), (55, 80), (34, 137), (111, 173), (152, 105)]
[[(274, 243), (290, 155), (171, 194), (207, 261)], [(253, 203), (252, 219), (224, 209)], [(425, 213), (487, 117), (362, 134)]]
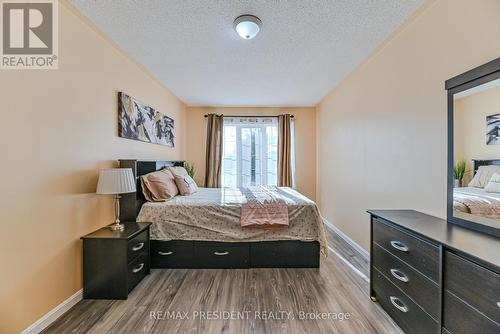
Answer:
[(316, 195), (316, 113), (315, 108), (231, 108), (231, 107), (188, 107), (187, 108), (187, 150), (186, 159), (197, 168), (196, 182), (204, 183), (205, 143), (207, 113), (238, 116), (274, 116), (292, 114), (295, 116), (297, 190), (314, 199)]

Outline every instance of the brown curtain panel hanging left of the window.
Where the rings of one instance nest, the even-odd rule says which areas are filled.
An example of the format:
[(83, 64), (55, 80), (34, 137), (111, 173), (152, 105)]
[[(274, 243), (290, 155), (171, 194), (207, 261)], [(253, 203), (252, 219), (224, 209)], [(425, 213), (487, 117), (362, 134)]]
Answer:
[(207, 152), (205, 159), (205, 187), (220, 188), (222, 165), (222, 115), (207, 117)]

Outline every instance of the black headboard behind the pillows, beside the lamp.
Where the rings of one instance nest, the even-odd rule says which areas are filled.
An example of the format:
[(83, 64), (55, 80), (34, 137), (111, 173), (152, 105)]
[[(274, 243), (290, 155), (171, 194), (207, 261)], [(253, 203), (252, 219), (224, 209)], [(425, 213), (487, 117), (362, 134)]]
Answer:
[(132, 168), (136, 183), (136, 192), (123, 194), (120, 198), (120, 220), (135, 221), (142, 205), (146, 202), (142, 193), (141, 179), (142, 175), (163, 169), (165, 167), (184, 166), (184, 161), (167, 160), (119, 160), (121, 168)]

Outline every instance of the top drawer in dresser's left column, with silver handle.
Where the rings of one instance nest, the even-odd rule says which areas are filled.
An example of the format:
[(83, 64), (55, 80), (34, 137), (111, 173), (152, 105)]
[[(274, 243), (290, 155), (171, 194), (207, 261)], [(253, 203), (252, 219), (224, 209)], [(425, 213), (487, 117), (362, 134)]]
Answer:
[(439, 277), (439, 248), (373, 218), (373, 241), (434, 282)]

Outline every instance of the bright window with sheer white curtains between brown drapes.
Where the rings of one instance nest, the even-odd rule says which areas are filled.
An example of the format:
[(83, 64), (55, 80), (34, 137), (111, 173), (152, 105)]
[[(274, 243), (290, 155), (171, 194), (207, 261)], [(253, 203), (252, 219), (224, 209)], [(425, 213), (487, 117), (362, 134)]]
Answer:
[[(292, 143), (293, 139), (292, 134)], [(292, 144), (292, 171), (295, 169), (294, 146)], [(222, 186), (277, 185), (277, 172), (278, 118), (225, 117)]]

